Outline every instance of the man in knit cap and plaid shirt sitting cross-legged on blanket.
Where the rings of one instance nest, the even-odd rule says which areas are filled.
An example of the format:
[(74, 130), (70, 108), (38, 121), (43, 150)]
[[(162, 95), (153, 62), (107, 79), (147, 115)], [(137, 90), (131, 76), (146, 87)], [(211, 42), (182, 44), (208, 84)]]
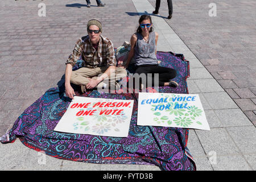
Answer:
[[(124, 68), (115, 67), (117, 60), (113, 43), (101, 35), (101, 22), (97, 19), (89, 20), (87, 32), (88, 35), (77, 41), (66, 63), (65, 90), (69, 98), (75, 95), (71, 83), (80, 85), (81, 92), (84, 93), (86, 89), (108, 88), (108, 84), (117, 84), (115, 81), (127, 75)], [(72, 71), (80, 56), (83, 67)]]

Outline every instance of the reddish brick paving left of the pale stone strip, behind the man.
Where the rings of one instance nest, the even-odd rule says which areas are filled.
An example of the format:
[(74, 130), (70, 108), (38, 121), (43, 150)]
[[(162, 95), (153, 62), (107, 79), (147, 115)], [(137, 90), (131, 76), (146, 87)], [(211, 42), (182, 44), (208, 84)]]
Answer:
[[(46, 17), (38, 16), (40, 2), (46, 4)], [(133, 2), (105, 2), (106, 7), (96, 7), (92, 0), (90, 8), (85, 0), (0, 2), (0, 135), (47, 89), (63, 82), (65, 61), (86, 35), (89, 19), (101, 20), (102, 35), (114, 47), (130, 40), (138, 22), (127, 14), (137, 15)]]

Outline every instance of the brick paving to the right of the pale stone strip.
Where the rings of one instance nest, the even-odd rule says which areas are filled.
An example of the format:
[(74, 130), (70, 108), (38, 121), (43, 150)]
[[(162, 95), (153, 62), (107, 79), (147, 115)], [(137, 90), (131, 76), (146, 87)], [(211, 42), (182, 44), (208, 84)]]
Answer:
[[(217, 16), (209, 16), (210, 3)], [(166, 22), (256, 126), (256, 2), (184, 0), (173, 6)], [(159, 14), (168, 16), (166, 1)]]

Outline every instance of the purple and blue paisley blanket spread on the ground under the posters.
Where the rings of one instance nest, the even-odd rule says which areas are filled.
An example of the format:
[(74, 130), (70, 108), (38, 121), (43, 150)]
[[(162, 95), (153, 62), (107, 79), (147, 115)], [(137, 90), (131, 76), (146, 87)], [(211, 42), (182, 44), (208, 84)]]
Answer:
[[(163, 67), (174, 68), (178, 88), (160, 87), (159, 92), (188, 93), (186, 78), (189, 62), (183, 55), (158, 52)], [(1, 138), (2, 143), (14, 142), (18, 137), (27, 147), (45, 151), (59, 159), (85, 163), (147, 164), (163, 170), (195, 170), (187, 148), (188, 129), (138, 126), (138, 94), (99, 93), (97, 90), (81, 96), (134, 100), (129, 135), (127, 138), (69, 134), (53, 131), (67, 110), (71, 100), (65, 97), (64, 86), (51, 88), (16, 119), (12, 129)]]

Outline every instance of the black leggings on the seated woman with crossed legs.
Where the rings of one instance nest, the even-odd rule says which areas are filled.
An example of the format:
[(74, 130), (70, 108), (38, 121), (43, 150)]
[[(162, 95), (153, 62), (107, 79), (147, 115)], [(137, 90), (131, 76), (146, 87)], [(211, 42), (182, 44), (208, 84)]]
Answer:
[[(139, 75), (144, 73), (146, 74), (147, 79), (152, 79), (152, 86), (154, 86), (154, 73), (159, 74), (159, 86), (164, 86), (164, 82), (169, 82), (177, 75), (175, 69), (159, 67), (159, 65), (141, 65), (136, 68), (135, 73), (138, 73)], [(152, 73), (152, 77), (147, 75), (147, 73)]]

